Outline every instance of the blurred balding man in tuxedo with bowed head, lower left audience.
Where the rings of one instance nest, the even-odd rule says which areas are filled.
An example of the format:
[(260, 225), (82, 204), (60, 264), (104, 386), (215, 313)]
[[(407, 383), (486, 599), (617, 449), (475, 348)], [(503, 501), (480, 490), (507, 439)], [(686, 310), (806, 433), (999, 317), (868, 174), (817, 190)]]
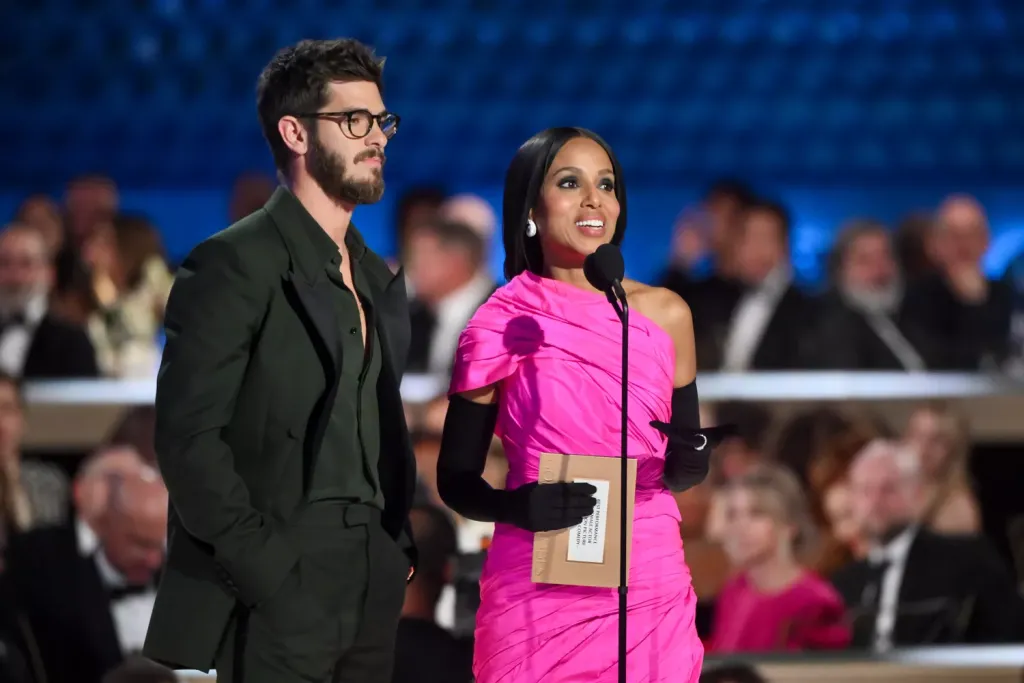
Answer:
[(92, 535), (80, 525), (12, 539), (9, 571), (49, 683), (99, 681), (141, 650), (164, 561), (167, 489), (152, 468), (112, 474)]

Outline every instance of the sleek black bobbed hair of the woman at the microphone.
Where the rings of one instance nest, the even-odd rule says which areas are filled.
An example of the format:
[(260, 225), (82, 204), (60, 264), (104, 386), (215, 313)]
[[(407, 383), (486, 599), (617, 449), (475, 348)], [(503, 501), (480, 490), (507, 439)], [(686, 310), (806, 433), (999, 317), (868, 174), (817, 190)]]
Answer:
[(615, 174), (615, 199), (618, 200), (618, 220), (611, 244), (618, 246), (626, 237), (626, 183), (623, 168), (611, 147), (597, 133), (585, 128), (548, 128), (523, 142), (505, 173), (505, 198), (502, 202), (502, 242), (505, 245), (505, 279), (512, 280), (524, 270), (541, 274), (544, 253), (537, 237), (526, 237), (526, 220), (537, 205), (544, 178), (558, 152), (569, 140), (586, 137), (601, 145), (611, 160)]

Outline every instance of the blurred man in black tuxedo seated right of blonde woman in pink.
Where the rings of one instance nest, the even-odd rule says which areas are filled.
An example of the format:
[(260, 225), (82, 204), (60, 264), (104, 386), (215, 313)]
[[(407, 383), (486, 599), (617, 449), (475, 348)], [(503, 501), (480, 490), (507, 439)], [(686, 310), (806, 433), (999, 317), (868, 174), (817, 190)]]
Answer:
[(1021, 596), (989, 544), (915, 523), (924, 492), (913, 452), (868, 443), (850, 469), (850, 495), (870, 550), (833, 582), (853, 616), (854, 647), (1021, 640)]

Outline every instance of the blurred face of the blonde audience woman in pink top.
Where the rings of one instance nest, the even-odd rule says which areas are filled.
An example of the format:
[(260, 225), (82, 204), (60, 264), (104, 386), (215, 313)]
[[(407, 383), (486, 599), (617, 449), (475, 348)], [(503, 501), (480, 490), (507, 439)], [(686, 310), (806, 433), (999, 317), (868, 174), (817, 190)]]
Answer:
[(726, 496), (724, 548), (737, 568), (772, 557), (792, 538), (792, 530), (772, 514), (764, 498), (745, 488), (734, 488)]

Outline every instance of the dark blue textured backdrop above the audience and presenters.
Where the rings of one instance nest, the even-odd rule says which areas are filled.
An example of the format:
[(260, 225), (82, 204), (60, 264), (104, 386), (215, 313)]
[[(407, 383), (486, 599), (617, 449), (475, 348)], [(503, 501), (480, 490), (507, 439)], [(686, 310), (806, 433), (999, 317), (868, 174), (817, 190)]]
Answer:
[[(399, 182), (435, 163), (453, 185), (500, 181), (516, 144), (563, 123), (596, 128), (631, 170), (664, 182), (736, 167), (1024, 179), (1019, 2), (345, 4), (3, 4), (12, 105), (0, 109), (0, 143), (28, 161), (0, 167), (0, 182), (52, 185), (76, 168), (225, 184), (266, 163), (260, 69), (285, 44), (336, 35), (389, 59), (386, 101), (406, 121)], [(67, 168), (39, 161), (41, 143), (59, 145)]]

